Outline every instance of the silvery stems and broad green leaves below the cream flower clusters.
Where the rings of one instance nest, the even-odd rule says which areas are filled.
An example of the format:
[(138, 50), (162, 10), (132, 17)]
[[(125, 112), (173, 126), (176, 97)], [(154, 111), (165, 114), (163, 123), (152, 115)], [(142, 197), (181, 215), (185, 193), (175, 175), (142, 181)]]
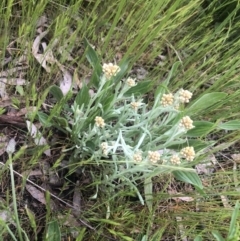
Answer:
[[(67, 149), (70, 172), (78, 167), (84, 169), (87, 165), (97, 166), (101, 175), (92, 172), (94, 178), (100, 179), (95, 182), (113, 185), (114, 180), (120, 180), (117, 186), (130, 187), (142, 203), (144, 199), (137, 183), (145, 180), (144, 192), (149, 208), (154, 176), (172, 172), (179, 180), (189, 182), (201, 190), (202, 183), (192, 169), (192, 163), (183, 161), (180, 165), (173, 165), (169, 160), (188, 145), (196, 151), (209, 146), (209, 143), (196, 137), (211, 132), (216, 124), (195, 121), (195, 128), (187, 132), (179, 131), (179, 122), (183, 116), (196, 116), (205, 108), (210, 108), (224, 99), (226, 94), (206, 94), (190, 106), (181, 105), (178, 109), (162, 106), (161, 98), (168, 93), (169, 81), (177, 74), (179, 63), (175, 63), (167, 79), (155, 89), (154, 101), (145, 103), (145, 94), (154, 89), (153, 82), (146, 80), (135, 86), (127, 85), (130, 60), (120, 63), (120, 71), (116, 76), (106, 79), (100, 60), (87, 40), (85, 47), (86, 57), (93, 68), (90, 82), (83, 83), (73, 104), (69, 104), (71, 94), (63, 96), (61, 90), (53, 86), (50, 91), (58, 100), (56, 105), (49, 115), (39, 113), (39, 119), (45, 126), (57, 127), (71, 140), (71, 146)], [(93, 95), (90, 95), (90, 89), (94, 90)], [(102, 118), (103, 126), (96, 125), (96, 117)], [(159, 160), (151, 162), (149, 152), (159, 153)], [(136, 153), (141, 154), (140, 162), (134, 160)]]

